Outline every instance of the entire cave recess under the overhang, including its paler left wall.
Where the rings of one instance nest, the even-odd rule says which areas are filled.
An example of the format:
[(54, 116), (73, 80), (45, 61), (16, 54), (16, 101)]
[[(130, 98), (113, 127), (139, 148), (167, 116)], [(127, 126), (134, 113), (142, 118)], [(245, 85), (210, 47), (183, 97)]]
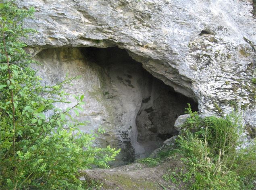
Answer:
[[(142, 63), (118, 47), (49, 48), (38, 53), (35, 60), (43, 63), (38, 70), (47, 83), (62, 81), (67, 72), (81, 76), (73, 81), (73, 87), (65, 89), (85, 94), (85, 111), (78, 120), (89, 122), (80, 130), (105, 129), (99, 144), (121, 148), (112, 164), (115, 166), (147, 157), (164, 140), (177, 135), (174, 123), (184, 114), (187, 103), (198, 110), (193, 99), (152, 76)], [(72, 98), (68, 99), (72, 102)]]

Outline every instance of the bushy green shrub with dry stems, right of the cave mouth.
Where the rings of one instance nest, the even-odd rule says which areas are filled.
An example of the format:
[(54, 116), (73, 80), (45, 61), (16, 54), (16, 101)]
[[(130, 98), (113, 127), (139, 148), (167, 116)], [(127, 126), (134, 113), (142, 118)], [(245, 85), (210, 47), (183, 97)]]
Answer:
[(236, 114), (200, 118), (187, 109), (190, 118), (177, 139), (181, 162), (186, 171), (170, 169), (163, 178), (185, 189), (254, 189), (256, 144), (242, 147), (244, 132)]

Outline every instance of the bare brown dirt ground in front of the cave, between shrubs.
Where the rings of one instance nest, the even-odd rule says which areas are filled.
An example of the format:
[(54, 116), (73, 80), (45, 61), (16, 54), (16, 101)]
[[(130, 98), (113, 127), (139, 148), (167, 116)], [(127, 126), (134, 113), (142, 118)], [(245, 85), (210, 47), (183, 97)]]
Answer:
[(110, 169), (88, 169), (84, 171), (84, 179), (102, 182), (101, 189), (107, 190), (175, 190), (175, 185), (162, 179), (169, 162), (157, 167), (146, 167), (133, 163)]

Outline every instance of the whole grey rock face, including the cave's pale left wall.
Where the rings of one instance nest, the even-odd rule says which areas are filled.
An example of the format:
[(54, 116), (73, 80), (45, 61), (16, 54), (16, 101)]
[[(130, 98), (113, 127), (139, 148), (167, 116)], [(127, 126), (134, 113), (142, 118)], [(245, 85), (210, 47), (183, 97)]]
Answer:
[[(183, 114), (181, 109), (193, 103), (191, 99), (204, 116), (237, 108), (244, 124), (256, 127), (256, 19), (251, 1), (17, 0), (17, 4), (35, 7), (35, 19), (25, 25), (38, 33), (25, 41), (35, 59), (43, 62), (44, 80), (61, 80), (65, 72), (81, 75), (81, 81), (67, 89), (87, 94), (87, 109), (79, 119), (90, 121), (88, 129), (102, 125), (111, 131), (101, 144), (126, 147), (122, 158), (143, 155), (140, 141), (174, 135), (173, 118)], [(114, 63), (111, 53), (117, 57)], [(169, 114), (171, 119), (166, 120)], [(162, 127), (164, 122), (167, 128)]]

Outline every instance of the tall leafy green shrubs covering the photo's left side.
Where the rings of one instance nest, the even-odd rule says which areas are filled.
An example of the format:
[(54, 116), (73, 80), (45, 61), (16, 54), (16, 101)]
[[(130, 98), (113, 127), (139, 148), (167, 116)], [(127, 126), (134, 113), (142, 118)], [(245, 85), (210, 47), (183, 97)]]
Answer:
[(40, 83), (31, 69), (31, 57), (19, 39), (23, 19), (33, 8), (19, 9), (12, 2), (0, 4), (0, 163), (1, 189), (83, 189), (79, 170), (108, 167), (119, 153), (94, 146), (96, 134), (84, 134), (72, 115), (83, 110), (84, 96), (65, 110), (54, 106), (67, 102), (62, 90), (74, 78), (53, 86)]

